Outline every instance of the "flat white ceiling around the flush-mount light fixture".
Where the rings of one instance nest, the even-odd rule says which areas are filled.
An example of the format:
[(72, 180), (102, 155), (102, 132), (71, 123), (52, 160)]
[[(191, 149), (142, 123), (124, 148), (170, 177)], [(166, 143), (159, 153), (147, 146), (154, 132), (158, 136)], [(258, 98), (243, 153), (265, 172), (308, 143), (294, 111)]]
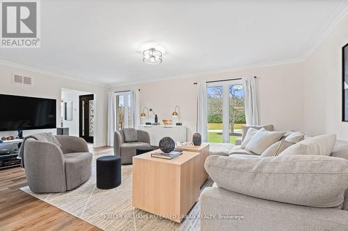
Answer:
[[(0, 60), (102, 84), (173, 78), (303, 58), (343, 0), (44, 0), (41, 48)], [(149, 43), (165, 49), (146, 65)]]

